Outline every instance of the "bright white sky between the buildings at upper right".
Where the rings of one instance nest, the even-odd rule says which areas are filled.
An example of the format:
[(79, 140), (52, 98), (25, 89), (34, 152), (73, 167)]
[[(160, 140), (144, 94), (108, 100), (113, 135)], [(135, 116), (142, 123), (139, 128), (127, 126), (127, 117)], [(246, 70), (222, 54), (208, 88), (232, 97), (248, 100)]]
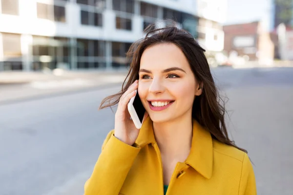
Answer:
[(224, 24), (236, 24), (256, 20), (271, 21), (272, 0), (228, 0), (227, 20)]

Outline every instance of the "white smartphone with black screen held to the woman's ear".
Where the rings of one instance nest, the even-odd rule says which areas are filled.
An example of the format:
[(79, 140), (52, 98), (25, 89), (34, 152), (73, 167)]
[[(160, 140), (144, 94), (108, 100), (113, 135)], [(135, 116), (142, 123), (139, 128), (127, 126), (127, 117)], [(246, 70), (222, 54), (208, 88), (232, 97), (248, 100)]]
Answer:
[(127, 108), (135, 127), (137, 129), (140, 129), (142, 128), (146, 109), (139, 98), (137, 90), (135, 90), (135, 93), (136, 93), (135, 96), (129, 100), (127, 104)]

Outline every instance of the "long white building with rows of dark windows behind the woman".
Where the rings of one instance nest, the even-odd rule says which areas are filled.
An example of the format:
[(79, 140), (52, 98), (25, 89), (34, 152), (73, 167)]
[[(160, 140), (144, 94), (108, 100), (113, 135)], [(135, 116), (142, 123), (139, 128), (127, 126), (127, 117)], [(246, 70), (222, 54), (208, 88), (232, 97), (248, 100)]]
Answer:
[(161, 19), (222, 51), (226, 1), (0, 0), (0, 71), (125, 67), (131, 43)]

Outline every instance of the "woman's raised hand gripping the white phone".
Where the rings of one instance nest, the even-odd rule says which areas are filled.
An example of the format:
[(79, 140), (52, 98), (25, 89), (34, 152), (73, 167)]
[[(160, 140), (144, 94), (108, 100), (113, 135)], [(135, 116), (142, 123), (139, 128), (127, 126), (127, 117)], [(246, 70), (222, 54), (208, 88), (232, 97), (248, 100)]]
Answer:
[(135, 96), (135, 90), (137, 90), (137, 88), (138, 80), (134, 81), (134, 83), (132, 83), (127, 91), (121, 96), (115, 114), (114, 136), (128, 145), (133, 145), (139, 134), (139, 129), (135, 127), (127, 110), (127, 104), (129, 100)]

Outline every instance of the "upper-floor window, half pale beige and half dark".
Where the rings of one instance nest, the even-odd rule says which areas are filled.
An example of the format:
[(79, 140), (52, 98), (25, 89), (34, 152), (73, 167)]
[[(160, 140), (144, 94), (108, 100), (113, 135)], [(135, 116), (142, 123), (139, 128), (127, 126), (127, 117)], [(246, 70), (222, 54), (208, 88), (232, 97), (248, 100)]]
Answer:
[(39, 19), (66, 22), (65, 7), (37, 2), (37, 17)]

